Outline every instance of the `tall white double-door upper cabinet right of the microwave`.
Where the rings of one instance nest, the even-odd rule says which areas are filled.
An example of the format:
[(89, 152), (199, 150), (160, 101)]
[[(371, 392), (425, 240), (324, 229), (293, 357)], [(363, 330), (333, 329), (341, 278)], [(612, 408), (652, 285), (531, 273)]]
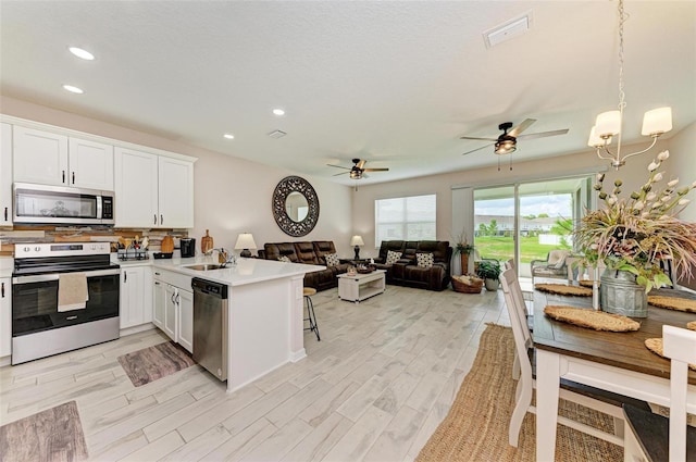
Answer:
[(115, 150), (117, 227), (192, 228), (194, 163)]

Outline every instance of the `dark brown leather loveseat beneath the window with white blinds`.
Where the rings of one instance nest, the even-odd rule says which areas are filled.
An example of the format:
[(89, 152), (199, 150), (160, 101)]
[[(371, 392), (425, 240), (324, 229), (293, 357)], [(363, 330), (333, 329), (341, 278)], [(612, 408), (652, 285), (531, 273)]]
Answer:
[[(388, 262), (389, 252), (400, 253), (398, 260)], [(432, 265), (427, 254), (433, 255)], [(374, 265), (386, 270), (387, 284), (439, 291), (449, 284), (451, 258), (452, 248), (447, 240), (383, 240)]]

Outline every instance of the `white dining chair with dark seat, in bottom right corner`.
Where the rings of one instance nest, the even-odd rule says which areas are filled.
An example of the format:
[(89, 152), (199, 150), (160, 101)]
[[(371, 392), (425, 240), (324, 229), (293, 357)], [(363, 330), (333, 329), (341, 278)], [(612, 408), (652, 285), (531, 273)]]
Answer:
[(662, 326), (662, 351), (671, 359), (670, 416), (624, 404), (626, 462), (696, 461), (696, 428), (686, 426), (688, 364), (696, 364), (696, 332)]

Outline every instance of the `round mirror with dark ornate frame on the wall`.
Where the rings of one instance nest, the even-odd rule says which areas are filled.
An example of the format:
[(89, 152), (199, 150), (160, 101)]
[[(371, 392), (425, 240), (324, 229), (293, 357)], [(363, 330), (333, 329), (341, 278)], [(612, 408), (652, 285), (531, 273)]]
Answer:
[(286, 176), (273, 191), (273, 217), (288, 236), (307, 236), (319, 221), (319, 197), (304, 178)]

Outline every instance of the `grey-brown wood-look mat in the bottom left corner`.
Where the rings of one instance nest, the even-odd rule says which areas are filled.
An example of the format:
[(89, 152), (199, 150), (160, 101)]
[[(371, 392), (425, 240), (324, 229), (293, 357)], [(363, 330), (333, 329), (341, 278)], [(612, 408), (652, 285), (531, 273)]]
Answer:
[(67, 462), (87, 459), (75, 401), (0, 427), (0, 460)]

